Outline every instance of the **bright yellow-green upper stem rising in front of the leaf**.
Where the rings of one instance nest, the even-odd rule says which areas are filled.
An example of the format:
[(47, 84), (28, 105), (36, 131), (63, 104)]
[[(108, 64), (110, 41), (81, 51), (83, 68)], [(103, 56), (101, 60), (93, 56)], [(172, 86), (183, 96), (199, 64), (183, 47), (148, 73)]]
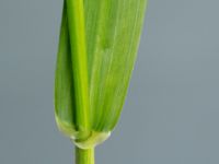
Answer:
[(90, 128), (89, 84), (83, 0), (67, 0), (67, 13), (77, 103), (77, 126), (79, 130), (88, 131)]

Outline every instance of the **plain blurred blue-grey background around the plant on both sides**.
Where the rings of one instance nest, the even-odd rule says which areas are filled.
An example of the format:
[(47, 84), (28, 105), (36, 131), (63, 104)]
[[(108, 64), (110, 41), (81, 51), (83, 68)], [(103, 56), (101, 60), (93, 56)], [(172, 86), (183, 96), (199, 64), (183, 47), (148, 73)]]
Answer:
[[(219, 1), (150, 0), (122, 119), (97, 164), (219, 163)], [(70, 164), (54, 120), (62, 1), (0, 0), (0, 163)]]

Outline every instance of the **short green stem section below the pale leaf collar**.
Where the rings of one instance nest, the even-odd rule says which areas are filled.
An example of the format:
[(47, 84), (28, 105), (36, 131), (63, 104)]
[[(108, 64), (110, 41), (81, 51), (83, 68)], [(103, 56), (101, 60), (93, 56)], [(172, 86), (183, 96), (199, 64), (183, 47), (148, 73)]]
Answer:
[(76, 147), (76, 164), (94, 164), (94, 148), (83, 150)]

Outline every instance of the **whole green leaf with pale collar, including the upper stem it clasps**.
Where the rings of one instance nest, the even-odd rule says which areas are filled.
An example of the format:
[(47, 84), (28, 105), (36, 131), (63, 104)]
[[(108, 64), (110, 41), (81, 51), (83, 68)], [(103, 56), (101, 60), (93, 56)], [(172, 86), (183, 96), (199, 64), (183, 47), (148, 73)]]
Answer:
[(77, 147), (110, 137), (127, 94), (147, 0), (65, 0), (55, 80), (57, 125)]

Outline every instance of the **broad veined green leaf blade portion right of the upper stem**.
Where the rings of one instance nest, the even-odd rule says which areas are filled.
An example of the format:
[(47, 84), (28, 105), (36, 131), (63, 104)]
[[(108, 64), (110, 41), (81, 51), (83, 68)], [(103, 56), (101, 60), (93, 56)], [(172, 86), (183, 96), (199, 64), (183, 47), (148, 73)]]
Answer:
[(99, 9), (95, 7), (99, 26), (95, 37), (87, 39), (87, 44), (94, 45), (93, 54), (88, 56), (92, 58), (90, 107), (93, 128), (97, 131), (112, 130), (118, 120), (135, 63), (146, 2), (104, 0), (99, 1)]

